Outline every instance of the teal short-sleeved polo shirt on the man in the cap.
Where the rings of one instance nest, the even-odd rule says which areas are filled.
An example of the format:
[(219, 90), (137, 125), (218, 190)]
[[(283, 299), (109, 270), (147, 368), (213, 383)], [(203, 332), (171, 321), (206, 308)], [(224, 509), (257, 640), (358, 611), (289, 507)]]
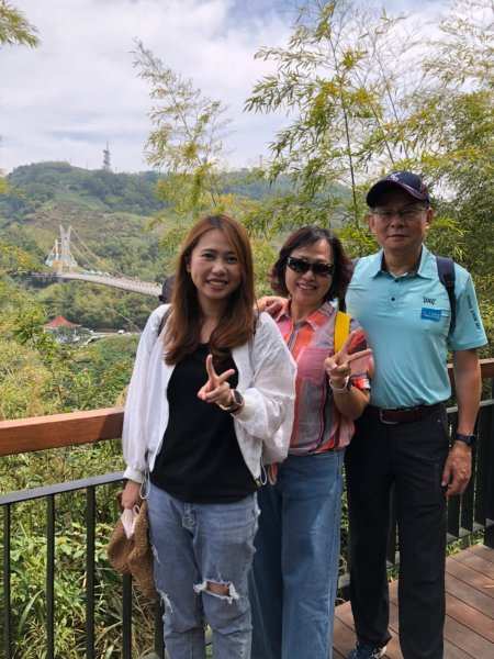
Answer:
[(457, 322), (439, 280), (436, 257), (423, 246), (416, 272), (394, 277), (382, 269), (383, 252), (360, 258), (347, 292), (347, 310), (363, 327), (375, 371), (371, 404), (413, 407), (451, 394), (448, 350), (487, 343), (470, 273), (454, 264)]

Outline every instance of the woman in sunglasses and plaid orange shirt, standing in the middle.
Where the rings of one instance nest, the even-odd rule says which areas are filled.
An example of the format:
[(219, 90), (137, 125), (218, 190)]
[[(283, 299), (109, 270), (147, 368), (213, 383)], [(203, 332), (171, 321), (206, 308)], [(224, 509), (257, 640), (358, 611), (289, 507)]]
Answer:
[(287, 239), (271, 271), (273, 290), (288, 298), (276, 321), (297, 376), (289, 457), (258, 499), (252, 659), (333, 656), (344, 449), (369, 402), (370, 350), (356, 322), (335, 355), (330, 301), (343, 308), (350, 277), (341, 243), (313, 226)]

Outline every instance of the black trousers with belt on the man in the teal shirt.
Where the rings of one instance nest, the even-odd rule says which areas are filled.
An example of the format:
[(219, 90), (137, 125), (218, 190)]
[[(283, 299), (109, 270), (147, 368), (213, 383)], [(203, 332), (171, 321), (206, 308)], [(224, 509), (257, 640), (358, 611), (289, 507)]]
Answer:
[(364, 413), (346, 456), (350, 521), (350, 599), (357, 637), (391, 638), (386, 580), (390, 494), (394, 485), (400, 545), (400, 645), (404, 659), (442, 659), (446, 409), (418, 422), (383, 424)]

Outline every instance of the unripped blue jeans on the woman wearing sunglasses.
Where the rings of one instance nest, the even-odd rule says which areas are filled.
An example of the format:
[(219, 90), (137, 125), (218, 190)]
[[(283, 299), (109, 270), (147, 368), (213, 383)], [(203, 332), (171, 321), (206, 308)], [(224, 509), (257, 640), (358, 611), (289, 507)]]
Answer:
[(258, 492), (252, 659), (333, 657), (343, 458), (290, 456), (278, 482)]

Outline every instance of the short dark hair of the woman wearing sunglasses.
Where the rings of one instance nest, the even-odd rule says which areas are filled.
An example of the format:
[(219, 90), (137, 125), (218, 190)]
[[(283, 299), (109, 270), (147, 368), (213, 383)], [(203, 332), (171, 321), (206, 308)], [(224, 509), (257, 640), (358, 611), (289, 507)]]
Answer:
[(271, 269), (271, 288), (276, 293), (287, 297), (289, 291), (287, 289), (284, 276), (287, 271), (288, 257), (294, 249), (303, 247), (304, 245), (314, 245), (314, 243), (318, 243), (319, 241), (326, 241), (328, 245), (330, 245), (335, 263), (333, 282), (326, 293), (325, 300), (337, 299), (339, 309), (345, 310), (345, 294), (347, 292), (348, 284), (350, 283), (353, 266), (351, 260), (345, 254), (345, 249), (340, 239), (327, 228), (319, 228), (318, 226), (303, 226), (287, 238), (280, 249), (278, 259)]

